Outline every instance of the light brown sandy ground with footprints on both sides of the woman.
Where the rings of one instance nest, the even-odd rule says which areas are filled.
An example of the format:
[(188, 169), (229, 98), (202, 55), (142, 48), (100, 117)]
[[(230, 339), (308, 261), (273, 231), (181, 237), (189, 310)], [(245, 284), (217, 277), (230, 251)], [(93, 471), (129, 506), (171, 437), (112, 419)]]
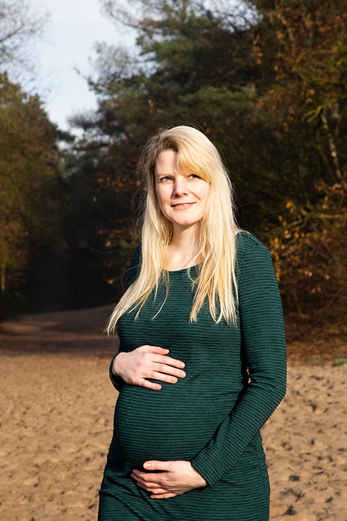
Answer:
[[(117, 398), (108, 313), (1, 324), (1, 520), (96, 520)], [(347, 521), (346, 383), (347, 365), (289, 364), (287, 396), (262, 431), (271, 521)]]

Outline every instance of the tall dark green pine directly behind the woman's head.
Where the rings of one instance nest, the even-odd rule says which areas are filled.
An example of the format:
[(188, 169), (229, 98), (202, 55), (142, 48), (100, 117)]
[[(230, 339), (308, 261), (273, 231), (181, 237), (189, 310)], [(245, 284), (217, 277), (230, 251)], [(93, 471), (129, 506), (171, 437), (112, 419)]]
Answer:
[[(118, 16), (115, 6), (107, 3), (109, 16)], [(218, 144), (242, 193), (246, 220), (255, 226), (266, 213), (259, 192), (268, 197), (276, 169), (264, 166), (261, 176), (258, 169), (254, 183), (255, 163), (267, 165), (269, 151), (262, 142), (264, 124), (255, 114), (260, 73), (251, 60), (249, 26), (235, 19), (226, 24), (196, 1), (143, 1), (137, 6), (146, 8), (146, 17), (128, 17), (128, 23), (139, 32), (138, 56), (96, 47), (96, 78), (89, 83), (99, 109), (74, 122), (108, 147), (112, 176), (128, 179), (139, 147), (158, 126), (196, 124)], [(276, 190), (271, 195), (276, 199)]]

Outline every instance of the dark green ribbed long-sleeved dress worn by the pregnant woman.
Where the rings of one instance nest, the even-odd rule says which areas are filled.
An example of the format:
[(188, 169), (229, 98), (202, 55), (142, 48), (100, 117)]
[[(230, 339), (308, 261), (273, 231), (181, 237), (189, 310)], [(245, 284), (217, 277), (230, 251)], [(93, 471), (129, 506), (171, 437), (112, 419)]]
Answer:
[[(208, 304), (189, 324), (196, 267), (169, 272), (134, 320), (118, 322), (119, 351), (170, 349), (184, 379), (151, 390), (121, 383), (112, 442), (100, 490), (99, 521), (267, 521), (269, 479), (260, 428), (285, 395), (282, 306), (268, 249), (237, 235), (237, 327), (215, 324)], [(139, 251), (130, 269), (137, 274)], [(147, 460), (186, 460), (208, 486), (151, 499), (131, 479)]]

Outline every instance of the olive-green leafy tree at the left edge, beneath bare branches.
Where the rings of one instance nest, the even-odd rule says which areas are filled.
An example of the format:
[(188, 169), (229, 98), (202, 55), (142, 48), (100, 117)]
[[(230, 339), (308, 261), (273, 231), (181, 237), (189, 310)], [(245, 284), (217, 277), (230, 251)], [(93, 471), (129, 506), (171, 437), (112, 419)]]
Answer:
[(1, 292), (21, 281), (33, 252), (56, 235), (56, 130), (36, 96), (0, 76)]

